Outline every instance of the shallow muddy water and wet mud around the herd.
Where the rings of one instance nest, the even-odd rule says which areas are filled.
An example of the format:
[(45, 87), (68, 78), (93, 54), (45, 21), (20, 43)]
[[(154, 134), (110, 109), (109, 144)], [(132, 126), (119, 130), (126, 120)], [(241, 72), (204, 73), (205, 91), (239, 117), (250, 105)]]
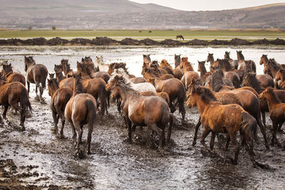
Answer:
[[(207, 53), (214, 53), (214, 58), (222, 58), (224, 51), (233, 48), (93, 48), (93, 47), (21, 47), (6, 48), (0, 51), (1, 59), (8, 59), (16, 70), (24, 73), (24, 55), (33, 55), (37, 63), (44, 63), (48, 70), (68, 58), (75, 68), (76, 60), (83, 56), (103, 55), (106, 63), (122, 61), (128, 63), (130, 73), (140, 75), (142, 53), (152, 54), (152, 59), (167, 58), (172, 63), (174, 53), (188, 56), (192, 63), (205, 60)], [(284, 50), (243, 49), (244, 57), (259, 62), (261, 54), (269, 54), (283, 63)], [(197, 66), (195, 64), (195, 66)], [(262, 73), (257, 64), (257, 72)], [(151, 137), (146, 129), (136, 130), (134, 142), (125, 142), (128, 136), (123, 118), (115, 105), (108, 110), (110, 115), (98, 116), (91, 143), (92, 154), (83, 154), (79, 159), (71, 144), (71, 128), (66, 125), (64, 139), (58, 139), (51, 132), (53, 119), (49, 109), (50, 97), (45, 90), (46, 104), (36, 102), (32, 85), (31, 105), (33, 113), (26, 119), (26, 131), (19, 131), (19, 115), (9, 111), (8, 120), (0, 127), (0, 181), (1, 186), (59, 187), (77, 189), (282, 189), (285, 181), (284, 149), (271, 147), (266, 150), (259, 132), (259, 141), (254, 151), (259, 162), (269, 164), (270, 169), (252, 167), (245, 149), (239, 154), (237, 166), (212, 157), (197, 142), (192, 147), (194, 125), (199, 112), (196, 108), (187, 108), (186, 122), (180, 123), (177, 115), (177, 127), (172, 132), (169, 148), (157, 150), (157, 139)], [(268, 117), (267, 123), (271, 125)], [(61, 123), (61, 122), (59, 122)], [(59, 124), (61, 126), (61, 124)], [(182, 130), (182, 127), (186, 130)], [(267, 130), (267, 134), (270, 131)], [(200, 133), (199, 133), (200, 135)], [(284, 144), (284, 134), (278, 134)], [(208, 137), (209, 138), (209, 137)], [(209, 141), (209, 139), (207, 139)], [(83, 132), (86, 142), (86, 130)], [(83, 144), (81, 149), (83, 149)], [(214, 148), (224, 156), (233, 156)]]

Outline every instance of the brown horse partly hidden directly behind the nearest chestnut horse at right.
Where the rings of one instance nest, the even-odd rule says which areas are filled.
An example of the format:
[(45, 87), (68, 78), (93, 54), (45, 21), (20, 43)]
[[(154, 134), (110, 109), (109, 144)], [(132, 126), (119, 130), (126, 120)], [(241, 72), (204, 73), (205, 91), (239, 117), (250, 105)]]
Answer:
[(216, 70), (213, 73), (209, 82), (209, 88), (211, 88), (214, 92), (229, 92), (237, 95), (237, 97), (239, 97), (240, 102), (242, 102), (242, 107), (244, 108), (244, 110), (249, 112), (249, 114), (257, 120), (257, 124), (259, 125), (261, 133), (264, 136), (265, 147), (269, 148), (267, 144), (267, 137), (264, 130), (264, 126), (261, 122), (261, 105), (257, 92), (250, 87), (239, 88), (235, 90), (228, 88), (224, 85), (222, 81), (222, 73), (219, 70)]

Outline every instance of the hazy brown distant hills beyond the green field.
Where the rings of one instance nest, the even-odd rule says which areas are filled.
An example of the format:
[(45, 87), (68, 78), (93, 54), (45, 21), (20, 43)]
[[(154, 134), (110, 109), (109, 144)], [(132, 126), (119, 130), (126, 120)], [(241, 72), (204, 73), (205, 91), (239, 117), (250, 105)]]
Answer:
[(179, 11), (127, 0), (0, 0), (0, 28), (285, 28), (285, 4)]

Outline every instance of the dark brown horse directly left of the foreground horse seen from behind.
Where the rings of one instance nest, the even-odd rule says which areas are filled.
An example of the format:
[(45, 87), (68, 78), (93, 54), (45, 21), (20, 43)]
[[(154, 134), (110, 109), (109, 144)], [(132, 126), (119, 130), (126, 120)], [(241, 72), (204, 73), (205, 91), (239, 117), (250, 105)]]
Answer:
[(66, 122), (64, 109), (73, 95), (73, 90), (68, 87), (59, 88), (56, 78), (48, 80), (48, 95), (51, 96), (51, 112), (53, 115), (54, 132), (58, 135), (58, 119), (61, 118), (60, 137), (63, 138), (63, 127)]

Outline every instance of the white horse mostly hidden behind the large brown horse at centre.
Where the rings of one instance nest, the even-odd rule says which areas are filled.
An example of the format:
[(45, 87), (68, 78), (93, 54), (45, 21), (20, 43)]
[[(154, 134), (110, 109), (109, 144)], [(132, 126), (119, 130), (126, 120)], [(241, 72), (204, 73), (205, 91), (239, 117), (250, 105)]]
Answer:
[(127, 73), (125, 73), (125, 70), (123, 68), (115, 69), (110, 79), (108, 80), (108, 83), (109, 81), (113, 80), (113, 78), (115, 78), (115, 75), (123, 76), (125, 81), (130, 84), (130, 88), (132, 88), (133, 90), (137, 90), (139, 93), (142, 93), (145, 91), (153, 91), (156, 93), (155, 87), (151, 83), (133, 83), (130, 80), (130, 76)]

